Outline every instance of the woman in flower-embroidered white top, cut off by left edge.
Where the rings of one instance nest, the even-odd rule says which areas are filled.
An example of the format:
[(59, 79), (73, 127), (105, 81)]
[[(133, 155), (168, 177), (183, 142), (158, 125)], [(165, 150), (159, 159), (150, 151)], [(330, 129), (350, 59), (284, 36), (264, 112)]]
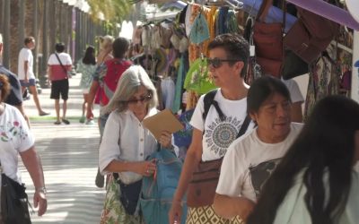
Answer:
[[(18, 156), (20, 155), (22, 158), (35, 186), (33, 203), (35, 208), (39, 207), (39, 216), (42, 216), (48, 207), (44, 174), (29, 126), (17, 108), (4, 103), (10, 93), (10, 88), (7, 77), (0, 74), (0, 162), (2, 171), (0, 223), (31, 223), (27, 208), (27, 195), (21, 178), (18, 176)], [(6, 185), (7, 183), (11, 183), (13, 189), (9, 189), (10, 185)], [(13, 198), (13, 195), (7, 194), (8, 191), (13, 190), (19, 194), (19, 197)], [(24, 202), (16, 203), (20, 199), (24, 199)], [(18, 204), (20, 206), (17, 206)]]

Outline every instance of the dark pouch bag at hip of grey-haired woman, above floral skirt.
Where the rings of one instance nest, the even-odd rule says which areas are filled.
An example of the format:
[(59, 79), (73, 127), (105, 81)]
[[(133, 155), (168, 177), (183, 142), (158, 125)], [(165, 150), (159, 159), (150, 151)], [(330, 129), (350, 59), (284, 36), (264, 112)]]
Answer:
[(119, 201), (125, 208), (125, 211), (129, 215), (135, 214), (138, 199), (140, 197), (141, 188), (142, 188), (142, 179), (136, 181), (135, 183), (126, 185), (122, 183), (118, 178), (118, 185), (119, 185)]

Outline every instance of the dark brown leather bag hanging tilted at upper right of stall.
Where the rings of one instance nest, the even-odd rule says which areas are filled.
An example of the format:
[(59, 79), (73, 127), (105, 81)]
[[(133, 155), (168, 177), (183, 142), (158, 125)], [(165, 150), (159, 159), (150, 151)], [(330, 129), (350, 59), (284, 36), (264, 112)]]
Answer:
[(297, 7), (300, 15), (285, 35), (284, 44), (308, 64), (320, 57), (321, 52), (339, 32), (339, 24), (316, 13)]

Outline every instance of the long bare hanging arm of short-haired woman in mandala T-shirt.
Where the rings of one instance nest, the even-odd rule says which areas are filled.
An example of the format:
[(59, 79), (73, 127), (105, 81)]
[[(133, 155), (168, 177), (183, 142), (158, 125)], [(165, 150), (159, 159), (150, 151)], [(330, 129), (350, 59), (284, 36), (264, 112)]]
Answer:
[(197, 168), (199, 161), (202, 159), (202, 132), (198, 129), (193, 129), (192, 142), (188, 148), (186, 159), (180, 172), (180, 181), (177, 186), (176, 193), (173, 196), (171, 211), (169, 213), (170, 223), (177, 220), (180, 223), (180, 216), (182, 211), (181, 201), (183, 195), (186, 194), (189, 181), (192, 178), (194, 170)]

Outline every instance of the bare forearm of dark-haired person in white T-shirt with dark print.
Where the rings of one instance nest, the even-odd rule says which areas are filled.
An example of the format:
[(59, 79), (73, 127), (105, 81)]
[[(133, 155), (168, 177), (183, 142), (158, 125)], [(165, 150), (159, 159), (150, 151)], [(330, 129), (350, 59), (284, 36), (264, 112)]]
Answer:
[(242, 220), (247, 220), (254, 205), (254, 202), (244, 197), (230, 197), (223, 194), (215, 194), (215, 213), (225, 219), (231, 219), (238, 215)]

